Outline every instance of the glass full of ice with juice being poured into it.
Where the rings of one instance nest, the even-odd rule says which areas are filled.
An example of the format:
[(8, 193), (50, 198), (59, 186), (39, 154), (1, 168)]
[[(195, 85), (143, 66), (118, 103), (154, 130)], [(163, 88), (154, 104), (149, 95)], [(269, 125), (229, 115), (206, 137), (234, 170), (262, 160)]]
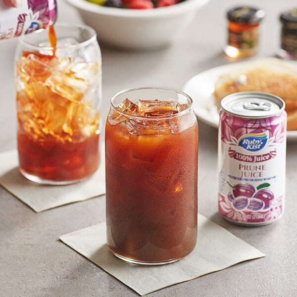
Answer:
[(101, 52), (85, 25), (21, 36), (15, 53), (19, 171), (52, 185), (90, 177), (99, 166)]

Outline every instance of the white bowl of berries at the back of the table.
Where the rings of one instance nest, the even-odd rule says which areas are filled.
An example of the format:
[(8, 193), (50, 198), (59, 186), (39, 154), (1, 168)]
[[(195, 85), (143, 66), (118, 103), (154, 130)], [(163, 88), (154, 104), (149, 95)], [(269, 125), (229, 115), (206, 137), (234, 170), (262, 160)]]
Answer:
[(66, 1), (96, 30), (99, 43), (127, 49), (151, 49), (174, 42), (177, 34), (209, 0), (184, 0), (152, 9), (105, 7), (86, 0)]

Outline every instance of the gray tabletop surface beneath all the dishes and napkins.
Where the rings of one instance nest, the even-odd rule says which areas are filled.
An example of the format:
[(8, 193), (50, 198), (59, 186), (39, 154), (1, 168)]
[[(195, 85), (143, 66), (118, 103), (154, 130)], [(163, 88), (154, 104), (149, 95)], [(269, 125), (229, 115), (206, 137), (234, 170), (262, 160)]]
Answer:
[[(226, 40), (225, 11), (242, 3), (211, 0), (166, 49), (121, 51), (101, 46), (103, 106), (128, 87), (163, 85), (182, 88), (194, 75), (230, 63), (222, 55)], [(295, 0), (247, 0), (266, 11), (259, 56), (273, 56), (280, 43), (279, 14)], [(58, 0), (58, 21), (82, 22)], [(16, 148), (13, 52), (16, 40), (0, 42), (0, 151)], [(203, 88), (203, 86), (201, 86)], [(266, 257), (244, 262), (195, 280), (174, 285), (163, 296), (296, 296), (297, 295), (297, 141), (287, 146), (286, 210), (273, 224), (245, 228), (217, 214), (217, 129), (199, 121), (199, 212), (258, 248)], [(105, 220), (104, 196), (35, 213), (0, 187), (0, 296), (105, 297), (138, 296), (133, 290), (58, 240), (58, 236)]]

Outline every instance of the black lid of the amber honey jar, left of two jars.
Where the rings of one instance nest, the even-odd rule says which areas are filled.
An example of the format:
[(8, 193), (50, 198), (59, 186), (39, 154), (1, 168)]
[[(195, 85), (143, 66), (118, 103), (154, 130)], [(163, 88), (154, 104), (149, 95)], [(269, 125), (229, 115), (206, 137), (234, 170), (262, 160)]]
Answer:
[(264, 10), (248, 6), (234, 7), (227, 12), (229, 21), (241, 24), (257, 24), (264, 15)]

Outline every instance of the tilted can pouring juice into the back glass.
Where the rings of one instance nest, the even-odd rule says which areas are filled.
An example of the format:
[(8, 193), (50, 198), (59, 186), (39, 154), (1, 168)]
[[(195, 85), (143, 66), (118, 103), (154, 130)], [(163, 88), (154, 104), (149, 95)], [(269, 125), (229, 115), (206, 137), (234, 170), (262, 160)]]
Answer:
[(0, 40), (45, 29), (56, 19), (55, 0), (22, 0), (20, 7), (0, 1)]

